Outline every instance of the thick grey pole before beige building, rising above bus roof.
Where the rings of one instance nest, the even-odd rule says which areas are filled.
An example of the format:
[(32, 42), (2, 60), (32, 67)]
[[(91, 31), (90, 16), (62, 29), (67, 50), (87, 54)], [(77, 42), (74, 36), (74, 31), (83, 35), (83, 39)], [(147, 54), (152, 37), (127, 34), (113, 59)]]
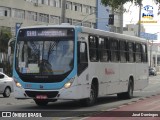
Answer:
[(66, 0), (62, 0), (62, 5), (61, 5), (61, 23), (65, 23), (65, 18), (66, 18)]

